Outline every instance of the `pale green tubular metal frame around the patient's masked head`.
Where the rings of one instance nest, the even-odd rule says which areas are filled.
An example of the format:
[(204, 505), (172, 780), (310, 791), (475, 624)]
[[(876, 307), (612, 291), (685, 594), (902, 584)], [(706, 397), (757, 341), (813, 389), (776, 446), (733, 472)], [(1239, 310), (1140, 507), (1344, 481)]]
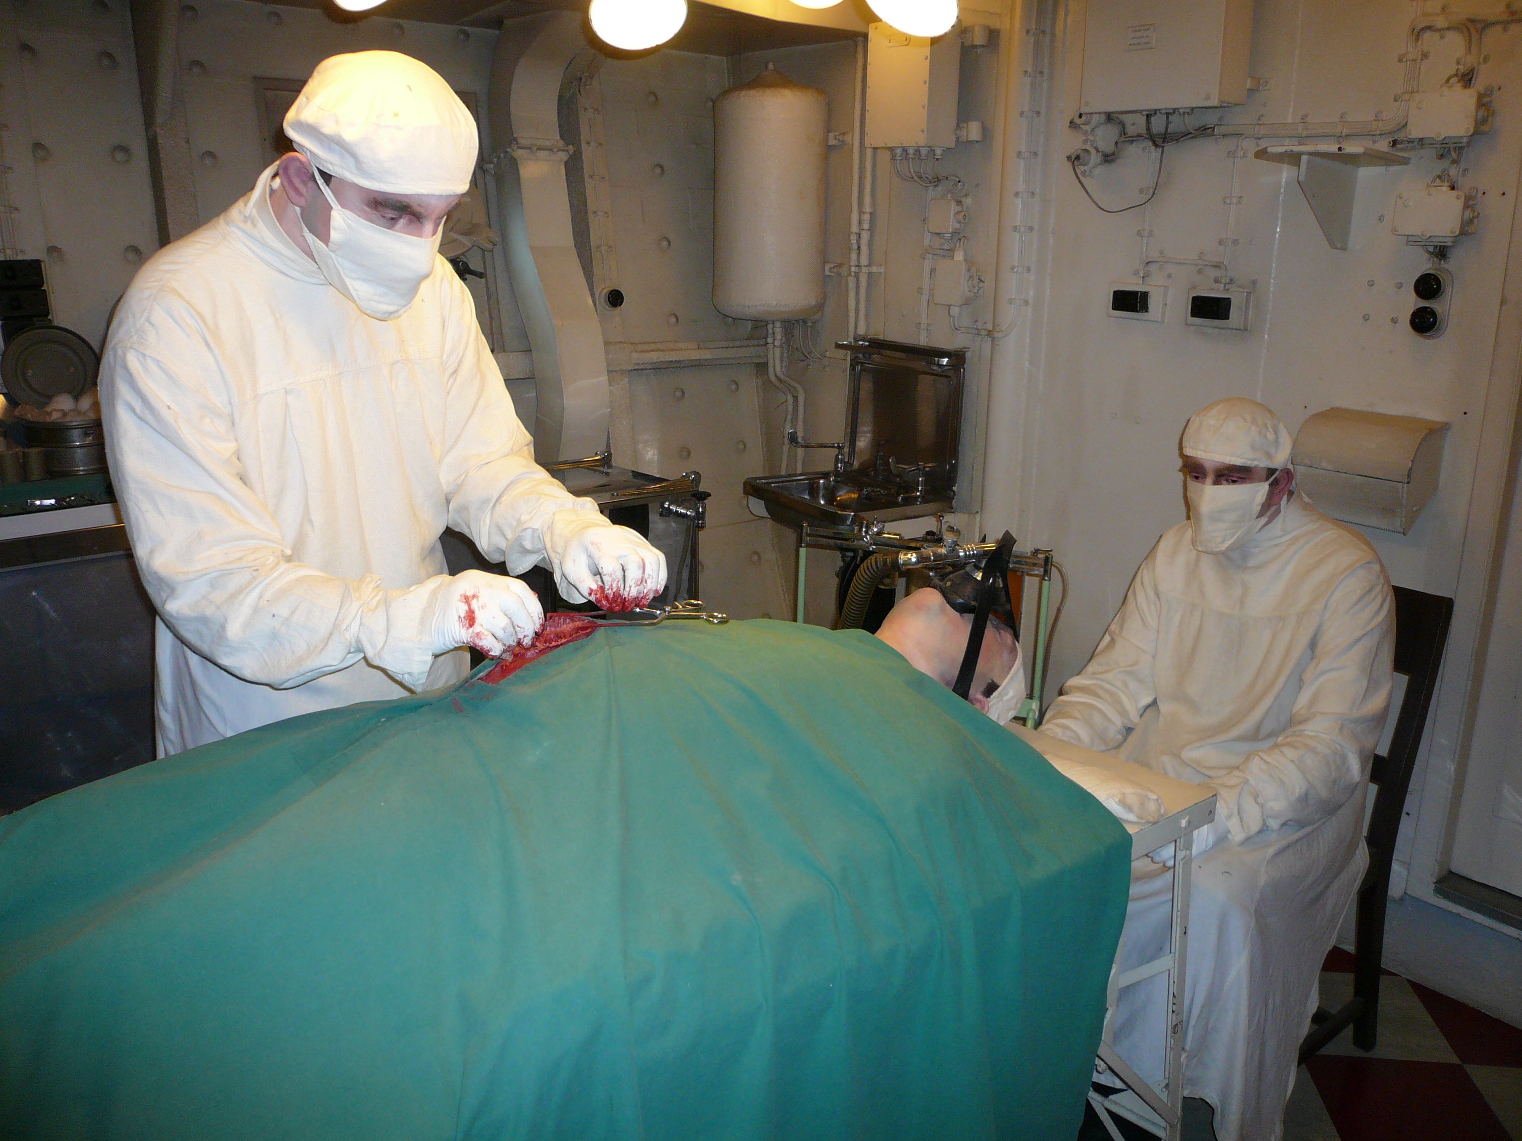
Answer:
[[(938, 516), (939, 519), (939, 516)], [(954, 531), (942, 528), (939, 536), (909, 537), (892, 531), (884, 531), (881, 523), (840, 528), (814, 526), (804, 523), (798, 531), (798, 610), (796, 622), (804, 621), (805, 572), (808, 567), (808, 549), (820, 551), (857, 551), (861, 554), (898, 552), (898, 569), (916, 570), (931, 566), (953, 566), (988, 558), (997, 543), (962, 543)], [(1038, 580), (1036, 589), (1036, 630), (1032, 639), (1030, 671), (1026, 677), (1026, 700), (1015, 712), (1015, 720), (1035, 729), (1041, 718), (1041, 680), (1046, 675), (1047, 656), (1047, 615), (1052, 604), (1052, 552), (1050, 551), (1015, 551), (1009, 557), (1009, 574)], [(1151, 849), (1149, 849), (1151, 850)]]

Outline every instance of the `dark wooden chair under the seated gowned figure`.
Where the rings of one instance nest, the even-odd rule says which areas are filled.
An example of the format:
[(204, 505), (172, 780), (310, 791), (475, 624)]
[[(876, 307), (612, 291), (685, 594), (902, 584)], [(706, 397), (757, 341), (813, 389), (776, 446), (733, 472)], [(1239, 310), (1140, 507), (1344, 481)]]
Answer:
[(1379, 961), (1385, 949), (1385, 899), (1390, 892), (1390, 861), (1406, 803), (1411, 768), (1422, 747), (1432, 694), (1437, 691), (1443, 645), (1454, 618), (1454, 599), (1396, 587), (1396, 672), (1406, 677), (1406, 694), (1396, 717), (1390, 756), (1374, 755), (1370, 783), (1374, 811), (1368, 820), (1368, 872), (1358, 888), (1353, 996), (1338, 1010), (1321, 1007), (1310, 1018), (1310, 1033), (1300, 1044), (1300, 1060), (1353, 1027), (1353, 1045), (1373, 1050), (1379, 1028)]

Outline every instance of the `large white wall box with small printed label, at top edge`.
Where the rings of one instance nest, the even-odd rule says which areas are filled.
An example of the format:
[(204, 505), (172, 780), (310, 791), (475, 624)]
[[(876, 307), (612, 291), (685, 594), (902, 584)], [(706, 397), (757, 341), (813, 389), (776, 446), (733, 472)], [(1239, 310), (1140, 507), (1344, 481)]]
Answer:
[(1253, 0), (1088, 0), (1079, 110), (1247, 102)]

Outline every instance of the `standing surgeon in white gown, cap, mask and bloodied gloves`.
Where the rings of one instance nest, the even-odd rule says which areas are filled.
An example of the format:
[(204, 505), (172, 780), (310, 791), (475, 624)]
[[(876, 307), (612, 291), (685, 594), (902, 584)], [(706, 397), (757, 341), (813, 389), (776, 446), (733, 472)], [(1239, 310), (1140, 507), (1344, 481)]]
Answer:
[[(100, 367), (113, 481), (158, 612), (160, 755), (464, 677), (543, 622), (469, 534), (568, 599), (648, 599), (665, 561), (533, 461), (438, 257), (476, 128), (396, 52), (318, 64), (297, 154), (132, 280)], [(321, 172), (321, 173), (318, 173)]]

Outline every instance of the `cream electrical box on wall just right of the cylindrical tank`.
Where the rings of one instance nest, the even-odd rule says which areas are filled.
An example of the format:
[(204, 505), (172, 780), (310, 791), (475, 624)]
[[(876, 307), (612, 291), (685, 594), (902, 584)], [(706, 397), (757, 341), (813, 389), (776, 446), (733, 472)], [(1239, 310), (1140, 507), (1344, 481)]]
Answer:
[(962, 24), (935, 40), (866, 29), (866, 145), (956, 146)]

